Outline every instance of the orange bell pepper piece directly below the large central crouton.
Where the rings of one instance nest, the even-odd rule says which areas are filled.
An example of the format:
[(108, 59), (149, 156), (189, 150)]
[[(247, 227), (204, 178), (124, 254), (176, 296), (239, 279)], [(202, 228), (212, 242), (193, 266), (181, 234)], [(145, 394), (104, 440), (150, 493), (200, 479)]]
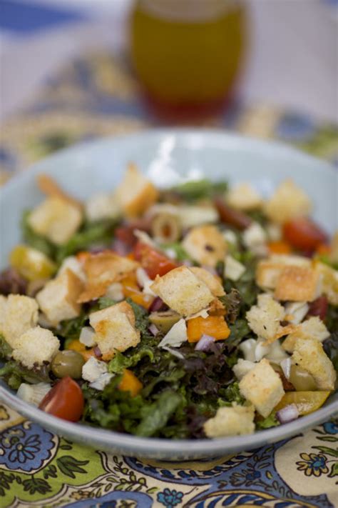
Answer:
[(187, 322), (188, 342), (198, 342), (203, 334), (216, 340), (227, 339), (230, 329), (223, 316), (194, 317)]

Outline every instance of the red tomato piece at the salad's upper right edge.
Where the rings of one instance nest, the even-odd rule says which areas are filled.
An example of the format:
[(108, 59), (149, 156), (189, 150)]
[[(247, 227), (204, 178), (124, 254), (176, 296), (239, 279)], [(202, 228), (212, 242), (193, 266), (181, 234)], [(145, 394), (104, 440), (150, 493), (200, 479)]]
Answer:
[(285, 222), (283, 234), (285, 239), (297, 249), (313, 251), (319, 244), (324, 244), (327, 241), (327, 234), (306, 217)]

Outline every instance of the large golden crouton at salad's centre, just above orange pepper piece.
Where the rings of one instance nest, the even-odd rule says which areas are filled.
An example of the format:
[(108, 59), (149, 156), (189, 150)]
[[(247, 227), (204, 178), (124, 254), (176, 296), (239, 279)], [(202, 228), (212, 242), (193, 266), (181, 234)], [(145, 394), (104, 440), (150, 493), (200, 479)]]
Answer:
[(187, 267), (178, 267), (163, 277), (156, 276), (150, 289), (182, 316), (196, 314), (214, 299), (208, 286)]

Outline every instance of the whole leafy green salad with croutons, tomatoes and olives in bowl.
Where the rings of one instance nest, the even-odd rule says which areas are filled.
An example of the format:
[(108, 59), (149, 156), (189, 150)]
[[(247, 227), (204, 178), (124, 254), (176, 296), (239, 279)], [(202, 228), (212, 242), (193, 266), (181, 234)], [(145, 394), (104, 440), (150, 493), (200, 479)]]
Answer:
[(135, 164), (86, 201), (45, 174), (0, 276), (0, 377), (55, 417), (139, 437), (252, 434), (337, 386), (338, 234), (269, 199)]

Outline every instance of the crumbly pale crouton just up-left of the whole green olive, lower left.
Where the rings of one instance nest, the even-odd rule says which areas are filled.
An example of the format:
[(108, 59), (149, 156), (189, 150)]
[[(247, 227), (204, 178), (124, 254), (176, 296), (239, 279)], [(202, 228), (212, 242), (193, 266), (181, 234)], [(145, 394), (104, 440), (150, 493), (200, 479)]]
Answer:
[(16, 340), (12, 357), (25, 367), (32, 369), (34, 364), (51, 362), (58, 352), (60, 342), (51, 330), (35, 327), (27, 330)]

